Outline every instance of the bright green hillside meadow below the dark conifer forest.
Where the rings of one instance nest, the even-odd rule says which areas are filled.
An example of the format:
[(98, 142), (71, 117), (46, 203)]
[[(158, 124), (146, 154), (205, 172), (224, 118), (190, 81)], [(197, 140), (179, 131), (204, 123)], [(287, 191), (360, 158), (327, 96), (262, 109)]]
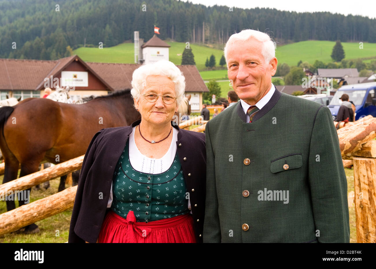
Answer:
[[(182, 56), (177, 54), (183, 53), (185, 43), (182, 42), (167, 42), (170, 47), (170, 61), (176, 65), (181, 64)], [(279, 63), (287, 63), (294, 66), (302, 60), (309, 63), (314, 63), (315, 60), (320, 60), (324, 63), (332, 62), (331, 53), (334, 46), (334, 41), (301, 41), (288, 45), (278, 46), (276, 50), (276, 57)], [(376, 43), (364, 43), (363, 49), (359, 48), (358, 42), (343, 42), (342, 43), (346, 58), (369, 58), (376, 59)], [(214, 54), (217, 65), (219, 67), (219, 60), (222, 56), (222, 50), (207, 45), (190, 44), (196, 66), (199, 71), (205, 71), (206, 57)], [(218, 47), (218, 45), (216, 45)], [(220, 46), (219, 46), (220, 47)], [(111, 63), (133, 63), (133, 43), (123, 43), (109, 48), (77, 48), (74, 53), (80, 56), (87, 62), (111, 62)], [(369, 59), (366, 61), (370, 61)], [(210, 72), (213, 72), (211, 75)], [(203, 79), (222, 79), (226, 70), (215, 70), (203, 73)]]

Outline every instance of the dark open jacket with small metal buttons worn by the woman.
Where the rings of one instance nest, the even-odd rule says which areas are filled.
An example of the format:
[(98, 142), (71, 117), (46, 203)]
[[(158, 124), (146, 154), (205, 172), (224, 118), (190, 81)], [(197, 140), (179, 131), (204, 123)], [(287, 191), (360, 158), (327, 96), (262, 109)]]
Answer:
[[(95, 243), (107, 212), (112, 177), (125, 144), (132, 133), (131, 126), (105, 128), (92, 138), (83, 159), (69, 228), (69, 243)], [(197, 242), (202, 242), (206, 192), (205, 135), (179, 129), (177, 153), (192, 207)]]

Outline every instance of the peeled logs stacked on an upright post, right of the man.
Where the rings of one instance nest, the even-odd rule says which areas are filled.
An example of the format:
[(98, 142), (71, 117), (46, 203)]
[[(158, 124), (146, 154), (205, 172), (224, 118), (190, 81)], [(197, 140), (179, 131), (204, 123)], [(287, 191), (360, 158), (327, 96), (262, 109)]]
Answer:
[(344, 167), (351, 160), (354, 166), (356, 240), (376, 243), (376, 118), (368, 115), (337, 133)]

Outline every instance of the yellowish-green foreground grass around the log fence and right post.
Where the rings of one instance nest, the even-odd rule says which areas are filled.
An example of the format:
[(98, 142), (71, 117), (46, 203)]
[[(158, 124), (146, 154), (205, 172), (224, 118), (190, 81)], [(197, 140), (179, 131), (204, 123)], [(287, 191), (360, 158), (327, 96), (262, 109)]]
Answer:
[[(212, 115), (211, 117), (212, 118)], [(195, 126), (197, 127), (197, 126)], [(353, 169), (345, 168), (347, 177), (347, 194), (354, 190), (354, 172)], [(0, 182), (3, 181), (3, 176), (0, 176)], [(48, 195), (56, 193), (58, 190), (60, 178), (50, 181), (51, 187), (47, 190), (35, 190), (34, 187), (30, 193), (30, 202), (37, 199), (44, 198)], [(66, 187), (68, 187), (66, 185)], [(18, 206), (18, 201), (15, 202)], [(0, 214), (6, 212), (5, 201), (0, 201)], [(68, 241), (69, 225), (72, 215), (72, 209), (65, 210), (50, 218), (43, 219), (36, 222), (41, 230), (38, 234), (22, 234), (9, 233), (0, 236), (0, 243), (64, 243)], [(353, 206), (349, 207), (350, 215), (350, 243), (356, 243), (356, 224), (355, 224), (355, 209)], [(57, 236), (59, 233), (59, 236)]]

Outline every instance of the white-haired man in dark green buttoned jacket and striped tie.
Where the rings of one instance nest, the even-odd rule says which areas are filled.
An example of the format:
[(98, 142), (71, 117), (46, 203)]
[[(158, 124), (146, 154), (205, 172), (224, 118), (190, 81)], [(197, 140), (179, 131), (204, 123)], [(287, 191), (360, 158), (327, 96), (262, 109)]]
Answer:
[(270, 37), (224, 48), (240, 102), (206, 124), (203, 242), (349, 242), (347, 181), (329, 109), (281, 93)]

